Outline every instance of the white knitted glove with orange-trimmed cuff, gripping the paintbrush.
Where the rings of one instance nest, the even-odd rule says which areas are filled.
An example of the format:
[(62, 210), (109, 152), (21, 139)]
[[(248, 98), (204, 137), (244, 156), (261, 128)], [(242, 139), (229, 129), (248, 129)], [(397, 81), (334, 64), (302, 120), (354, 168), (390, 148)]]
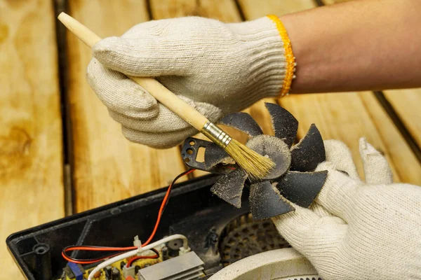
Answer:
[(286, 71), (283, 54), (279, 31), (266, 17), (235, 24), (155, 20), (94, 45), (87, 77), (127, 139), (169, 148), (197, 131), (122, 73), (156, 77), (215, 122), (276, 97)]

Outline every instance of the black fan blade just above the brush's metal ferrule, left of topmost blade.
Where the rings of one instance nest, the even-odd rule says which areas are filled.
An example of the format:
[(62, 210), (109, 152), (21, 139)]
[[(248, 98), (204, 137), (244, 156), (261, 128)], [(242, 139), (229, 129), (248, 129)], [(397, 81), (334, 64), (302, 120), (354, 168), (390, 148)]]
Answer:
[(238, 112), (231, 113), (219, 121), (222, 125), (240, 130), (249, 136), (258, 136), (263, 134), (262, 129), (248, 113)]

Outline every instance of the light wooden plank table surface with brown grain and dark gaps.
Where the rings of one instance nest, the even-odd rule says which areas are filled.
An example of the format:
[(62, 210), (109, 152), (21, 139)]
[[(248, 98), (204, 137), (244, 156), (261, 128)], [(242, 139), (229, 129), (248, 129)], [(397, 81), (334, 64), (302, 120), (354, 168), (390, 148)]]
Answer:
[[(154, 150), (122, 136), (86, 82), (91, 52), (66, 35), (56, 20), (60, 11), (105, 37), (152, 19), (199, 15), (240, 22), (322, 3), (0, 0), (0, 279), (22, 277), (4, 242), (11, 233), (167, 186), (186, 169), (180, 147)], [(360, 172), (358, 139), (366, 137), (385, 153), (396, 182), (421, 185), (421, 89), (288, 96), (245, 110), (270, 134), (264, 102), (293, 113), (299, 138), (315, 123), (323, 139), (345, 141)]]

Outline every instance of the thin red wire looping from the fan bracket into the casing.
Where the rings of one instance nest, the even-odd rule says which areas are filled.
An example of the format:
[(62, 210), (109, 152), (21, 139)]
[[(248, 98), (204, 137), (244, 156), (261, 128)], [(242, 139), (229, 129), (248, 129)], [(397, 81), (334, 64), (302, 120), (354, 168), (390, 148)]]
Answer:
[[(190, 174), (190, 173), (194, 172), (194, 170), (195, 169), (189, 169), (187, 172), (180, 174), (180, 176), (185, 176), (187, 174)], [(142, 244), (142, 247), (143, 246), (146, 246), (147, 244), (150, 243), (150, 241), (152, 241), (152, 239), (154, 239), (156, 230), (158, 230), (159, 222), (161, 221), (162, 211), (165, 208), (166, 202), (169, 199), (169, 196), (170, 196), (170, 193), (171, 193), (171, 188), (173, 188), (173, 185), (174, 185), (175, 181), (177, 181), (177, 180), (174, 180), (171, 183), (171, 185), (168, 186), (168, 189), (166, 191), (166, 195), (163, 197), (163, 200), (161, 202), (161, 207), (159, 208), (158, 217), (156, 218), (156, 223), (155, 223), (154, 230), (152, 230), (152, 233), (149, 236), (149, 238), (147, 239), (147, 241), (145, 241), (145, 243)], [(62, 257), (65, 260), (69, 261), (69, 262), (74, 262), (74, 263), (80, 263), (80, 264), (83, 264), (83, 265), (87, 265), (87, 264), (99, 262), (100, 260), (105, 260), (106, 258), (112, 258), (112, 257), (114, 257), (116, 255), (120, 255), (121, 253), (116, 253), (115, 255), (107, 255), (106, 257), (97, 258), (95, 260), (72, 260), (71, 258), (68, 258), (67, 255), (65, 255), (65, 252), (67, 252), (67, 251), (76, 251), (76, 250), (83, 250), (83, 251), (128, 251), (128, 250), (134, 250), (136, 248), (138, 248), (138, 247), (136, 247), (136, 246), (129, 246), (129, 247), (103, 247), (103, 248), (95, 248), (95, 247), (90, 247), (90, 246), (74, 246), (74, 247), (72, 246), (72, 247), (69, 247), (69, 248), (65, 248), (65, 250), (62, 251)], [(135, 258), (133, 258), (131, 260), (135, 261), (135, 260), (138, 260), (140, 258), (156, 258), (156, 255), (155, 256), (148, 256), (148, 255), (147, 256), (139, 256), (139, 257), (135, 257)], [(128, 264), (129, 263), (132, 263), (133, 261), (128, 262)], [(130, 265), (128, 265), (127, 267), (130, 267)]]

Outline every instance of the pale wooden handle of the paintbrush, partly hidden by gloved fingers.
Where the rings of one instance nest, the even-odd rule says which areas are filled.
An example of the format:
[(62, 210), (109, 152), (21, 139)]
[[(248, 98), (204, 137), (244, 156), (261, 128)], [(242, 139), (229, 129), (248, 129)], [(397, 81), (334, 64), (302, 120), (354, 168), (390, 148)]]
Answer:
[[(93, 31), (82, 25), (80, 22), (67, 15), (66, 13), (60, 13), (58, 20), (62, 22), (67, 29), (72, 31), (83, 43), (86, 43), (89, 48), (92, 48), (95, 43), (98, 43), (101, 38), (98, 37)], [(185, 120), (187, 123), (192, 125), (196, 130), (201, 131), (203, 125), (208, 122), (208, 119), (201, 113), (196, 111), (192, 106), (185, 103), (176, 94), (173, 94), (171, 90), (164, 87), (154, 78), (140, 78), (131, 77), (136, 83), (141, 85), (147, 92), (149, 92), (156, 100), (161, 102), (168, 109), (173, 111), (177, 116)]]

